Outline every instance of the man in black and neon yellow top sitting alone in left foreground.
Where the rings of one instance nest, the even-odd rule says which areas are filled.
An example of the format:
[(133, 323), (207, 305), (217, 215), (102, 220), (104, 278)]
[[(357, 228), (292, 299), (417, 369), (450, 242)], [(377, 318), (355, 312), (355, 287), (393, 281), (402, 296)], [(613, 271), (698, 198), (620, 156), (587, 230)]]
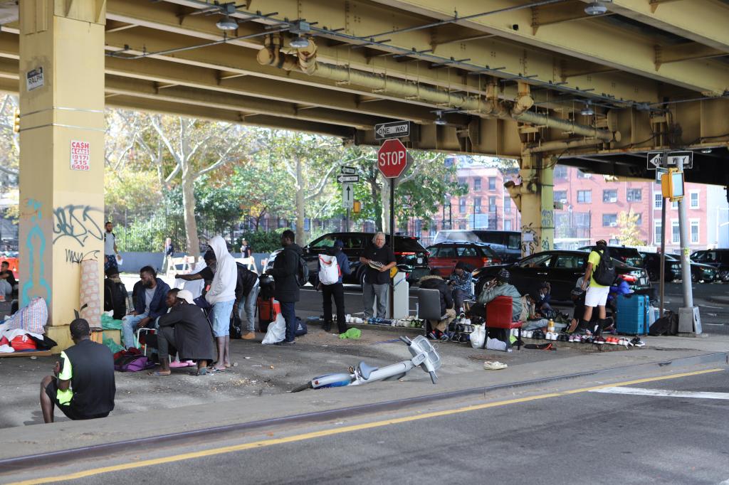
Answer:
[(53, 422), (58, 406), (69, 419), (107, 417), (114, 409), (114, 355), (106, 345), (92, 342), (86, 320), (71, 322), (74, 345), (61, 352), (53, 374), (41, 382), (41, 410), (44, 422)]

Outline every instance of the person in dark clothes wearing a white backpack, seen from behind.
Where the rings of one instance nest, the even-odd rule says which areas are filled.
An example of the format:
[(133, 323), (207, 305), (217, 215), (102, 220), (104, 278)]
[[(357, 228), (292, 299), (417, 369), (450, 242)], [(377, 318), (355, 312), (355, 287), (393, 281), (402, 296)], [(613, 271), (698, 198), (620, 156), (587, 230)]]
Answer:
[(342, 275), (351, 275), (349, 259), (343, 253), (344, 242), (336, 240), (327, 254), (319, 256), (319, 287), (324, 298), (324, 326), (325, 332), (332, 330), (332, 296), (337, 305), (337, 326), (339, 333), (345, 333), (347, 328), (344, 312), (344, 285)]

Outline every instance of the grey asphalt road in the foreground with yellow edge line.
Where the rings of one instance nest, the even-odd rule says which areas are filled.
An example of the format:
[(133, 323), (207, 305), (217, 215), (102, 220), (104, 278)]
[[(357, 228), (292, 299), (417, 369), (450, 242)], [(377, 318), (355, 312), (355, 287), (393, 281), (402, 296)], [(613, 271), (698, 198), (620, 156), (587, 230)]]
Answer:
[[(727, 484), (727, 368), (571, 379), (38, 468), (67, 484)], [(328, 391), (306, 391), (324, 396)], [(293, 411), (293, 410), (292, 410)], [(39, 464), (40, 465), (40, 464)], [(4, 483), (12, 481), (0, 476)], [(73, 478), (73, 479), (71, 479)], [(36, 483), (28, 481), (26, 483)]]

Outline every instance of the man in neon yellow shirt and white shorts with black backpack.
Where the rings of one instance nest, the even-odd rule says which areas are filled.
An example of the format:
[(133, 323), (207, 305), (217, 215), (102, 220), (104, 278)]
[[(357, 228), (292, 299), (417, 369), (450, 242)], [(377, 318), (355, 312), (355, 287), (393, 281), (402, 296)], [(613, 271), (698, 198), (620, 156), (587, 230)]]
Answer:
[(582, 278), (582, 290), (586, 289), (587, 293), (585, 294), (585, 314), (582, 315), (582, 321), (580, 321), (580, 327), (589, 328), (593, 309), (597, 307), (599, 320), (593, 329), (598, 336), (609, 323), (605, 305), (613, 281), (615, 281), (615, 266), (612, 264), (607, 242), (599, 240), (588, 257), (585, 277)]

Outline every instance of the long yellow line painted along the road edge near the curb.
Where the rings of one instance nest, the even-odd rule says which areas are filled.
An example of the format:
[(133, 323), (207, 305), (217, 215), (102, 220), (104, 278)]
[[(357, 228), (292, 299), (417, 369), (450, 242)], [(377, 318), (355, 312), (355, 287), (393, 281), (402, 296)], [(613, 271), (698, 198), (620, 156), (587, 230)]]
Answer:
[(397, 425), (399, 423), (418, 421), (420, 419), (429, 419), (432, 417), (448, 416), (450, 414), (459, 414), (459, 413), (464, 413), (464, 412), (469, 412), (469, 411), (477, 411), (479, 409), (488, 409), (488, 408), (495, 408), (498, 406), (507, 406), (509, 404), (528, 403), (529, 401), (538, 401), (539, 399), (557, 398), (557, 397), (565, 396), (565, 395), (587, 393), (590, 390), (602, 389), (604, 387), (626, 386), (626, 385), (642, 384), (643, 382), (655, 382), (655, 381), (663, 381), (666, 379), (678, 379), (679, 377), (698, 376), (701, 374), (709, 374), (711, 372), (721, 372), (723, 370), (724, 369), (722, 369), (722, 368), (712, 368), (712, 369), (707, 369), (705, 371), (684, 372), (682, 374), (672, 374), (670, 376), (648, 377), (646, 379), (635, 379), (632, 381), (625, 381), (625, 382), (613, 382), (612, 384), (604, 384), (604, 385), (593, 386), (593, 387), (582, 387), (580, 389), (561, 391), (558, 393), (539, 394), (539, 395), (529, 396), (526, 398), (509, 399), (507, 401), (494, 401), (493, 403), (475, 404), (472, 406), (464, 406), (461, 408), (448, 409), (445, 411), (432, 411), (429, 413), (416, 414), (414, 416), (406, 416), (406, 417), (400, 417), (400, 418), (394, 418), (394, 419), (384, 419), (383, 421), (364, 423), (362, 425), (352, 425), (352, 426), (332, 428), (329, 430), (313, 431), (312, 433), (303, 433), (300, 435), (288, 436), (286, 438), (272, 438), (272, 439), (268, 439), (268, 440), (254, 441), (253, 443), (244, 443), (244, 444), (238, 444), (238, 445), (233, 445), (233, 446), (222, 446), (220, 448), (208, 449), (208, 450), (204, 450), (201, 452), (176, 454), (171, 457), (155, 458), (152, 460), (142, 460), (140, 462), (124, 463), (121, 465), (112, 465), (109, 467), (92, 468), (90, 470), (80, 471), (77, 473), (69, 473), (68, 475), (52, 476), (52, 477), (47, 477), (47, 478), (34, 478), (31, 480), (26, 480), (26, 481), (13, 482), (12, 484), (9, 484), (9, 485), (49, 484), (54, 481), (75, 480), (77, 478), (85, 478), (88, 476), (99, 475), (101, 473), (109, 473), (109, 472), (120, 471), (120, 470), (130, 470), (132, 468), (149, 467), (152, 465), (161, 465), (163, 463), (172, 463), (172, 462), (179, 462), (179, 461), (183, 461), (183, 460), (191, 460), (193, 458), (211, 457), (216, 454), (241, 452), (246, 449), (262, 448), (263, 446), (273, 446), (273, 445), (283, 444), (283, 443), (295, 443), (296, 441), (305, 441), (305, 440), (310, 440), (313, 438), (321, 438), (323, 436), (339, 435), (342, 433), (350, 433), (352, 431), (368, 430), (368, 429), (372, 429), (374, 427)]

